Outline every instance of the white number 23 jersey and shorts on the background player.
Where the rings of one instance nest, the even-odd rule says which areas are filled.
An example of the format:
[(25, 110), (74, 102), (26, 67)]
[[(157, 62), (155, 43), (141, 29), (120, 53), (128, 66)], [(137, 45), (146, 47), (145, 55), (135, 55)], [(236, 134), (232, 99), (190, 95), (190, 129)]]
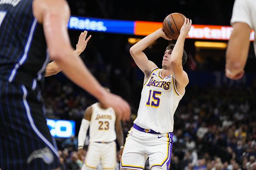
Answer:
[(90, 122), (90, 144), (81, 170), (96, 169), (100, 163), (103, 169), (116, 167), (116, 113), (112, 107), (101, 109), (99, 103), (92, 105)]

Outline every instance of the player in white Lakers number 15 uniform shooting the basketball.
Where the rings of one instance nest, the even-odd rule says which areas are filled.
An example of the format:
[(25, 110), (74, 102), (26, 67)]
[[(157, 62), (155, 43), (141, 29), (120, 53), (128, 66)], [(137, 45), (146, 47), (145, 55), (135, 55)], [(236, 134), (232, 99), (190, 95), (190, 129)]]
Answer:
[(188, 84), (182, 65), (187, 60), (185, 37), (192, 21), (185, 19), (174, 45), (165, 49), (162, 69), (142, 52), (159, 37), (170, 40), (162, 28), (131, 47), (130, 53), (145, 74), (140, 106), (134, 125), (128, 132), (121, 159), (122, 169), (144, 169), (149, 158), (150, 170), (169, 169), (172, 153), (173, 115)]

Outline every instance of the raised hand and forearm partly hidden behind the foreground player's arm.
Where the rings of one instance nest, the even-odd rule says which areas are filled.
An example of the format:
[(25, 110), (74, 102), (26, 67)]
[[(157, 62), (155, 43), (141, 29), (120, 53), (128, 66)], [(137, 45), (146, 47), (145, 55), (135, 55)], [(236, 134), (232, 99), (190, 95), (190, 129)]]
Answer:
[[(84, 31), (80, 34), (78, 43), (76, 45), (76, 49), (74, 51), (74, 54), (76, 56), (80, 55), (84, 51), (84, 49), (86, 48), (87, 42), (89, 41), (89, 39), (91, 39), (91, 35), (88, 36), (88, 38), (86, 38), (86, 36), (87, 36), (87, 31)], [(47, 64), (44, 77), (55, 75), (59, 73), (61, 70), (62, 69), (58, 66), (58, 64), (55, 61), (53, 61)]]

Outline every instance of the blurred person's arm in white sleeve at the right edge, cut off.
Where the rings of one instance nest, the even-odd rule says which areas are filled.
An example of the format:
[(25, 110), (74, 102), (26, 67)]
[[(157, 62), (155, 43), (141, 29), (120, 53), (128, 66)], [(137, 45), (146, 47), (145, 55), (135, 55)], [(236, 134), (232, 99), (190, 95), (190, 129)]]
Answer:
[[(228, 41), (226, 52), (226, 76), (240, 79), (244, 75), (244, 67), (250, 47), (250, 33), (256, 31), (256, 1), (235, 0), (231, 25), (234, 28)], [(254, 33), (254, 52), (256, 52), (256, 33)]]

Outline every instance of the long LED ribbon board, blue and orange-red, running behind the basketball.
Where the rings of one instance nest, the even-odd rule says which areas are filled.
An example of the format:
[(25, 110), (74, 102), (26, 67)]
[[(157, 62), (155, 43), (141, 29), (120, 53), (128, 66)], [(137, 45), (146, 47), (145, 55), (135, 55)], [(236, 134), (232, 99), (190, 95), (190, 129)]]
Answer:
[[(101, 18), (87, 18), (71, 16), (68, 28), (71, 30), (88, 30), (104, 33), (121, 33), (130, 35), (147, 36), (158, 28), (162, 27), (162, 22), (150, 21), (122, 21)], [(211, 39), (228, 40), (233, 28), (221, 25), (197, 25), (193, 24), (189, 32), (190, 39)], [(255, 33), (250, 34), (253, 41)]]

